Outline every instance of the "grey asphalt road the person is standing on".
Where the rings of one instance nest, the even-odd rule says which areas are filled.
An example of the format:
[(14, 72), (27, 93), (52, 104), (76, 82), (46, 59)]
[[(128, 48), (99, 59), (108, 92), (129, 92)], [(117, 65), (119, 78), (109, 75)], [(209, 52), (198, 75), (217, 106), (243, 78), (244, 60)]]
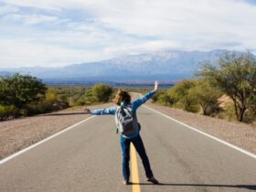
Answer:
[[(0, 191), (253, 191), (256, 159), (141, 107), (141, 135), (155, 177), (123, 186), (113, 116), (95, 116), (0, 165)], [(136, 187), (135, 187), (136, 186)]]

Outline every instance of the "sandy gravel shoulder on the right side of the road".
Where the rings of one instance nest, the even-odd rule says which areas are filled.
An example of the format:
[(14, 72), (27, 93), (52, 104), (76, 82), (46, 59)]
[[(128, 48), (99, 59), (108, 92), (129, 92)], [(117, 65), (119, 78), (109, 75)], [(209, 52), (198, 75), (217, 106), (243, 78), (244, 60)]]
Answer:
[(198, 130), (216, 136), (229, 144), (237, 145), (256, 154), (256, 127), (246, 123), (228, 122), (193, 112), (159, 106), (151, 102), (147, 102), (146, 105)]

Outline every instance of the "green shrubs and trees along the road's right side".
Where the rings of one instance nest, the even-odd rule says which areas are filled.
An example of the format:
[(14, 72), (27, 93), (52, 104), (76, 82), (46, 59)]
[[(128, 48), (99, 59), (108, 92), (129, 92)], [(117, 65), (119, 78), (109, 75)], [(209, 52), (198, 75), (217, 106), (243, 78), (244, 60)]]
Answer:
[(219, 64), (201, 64), (194, 80), (181, 80), (155, 94), (153, 101), (204, 115), (256, 121), (256, 60), (250, 52), (227, 53)]

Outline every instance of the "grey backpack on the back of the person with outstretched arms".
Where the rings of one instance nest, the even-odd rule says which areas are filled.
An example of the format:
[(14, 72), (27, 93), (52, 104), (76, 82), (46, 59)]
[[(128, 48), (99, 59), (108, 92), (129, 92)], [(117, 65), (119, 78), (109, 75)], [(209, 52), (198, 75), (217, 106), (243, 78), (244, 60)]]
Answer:
[(117, 133), (124, 136), (131, 136), (139, 129), (137, 118), (133, 115), (132, 108), (128, 106), (120, 107), (115, 114), (115, 123), (117, 126)]

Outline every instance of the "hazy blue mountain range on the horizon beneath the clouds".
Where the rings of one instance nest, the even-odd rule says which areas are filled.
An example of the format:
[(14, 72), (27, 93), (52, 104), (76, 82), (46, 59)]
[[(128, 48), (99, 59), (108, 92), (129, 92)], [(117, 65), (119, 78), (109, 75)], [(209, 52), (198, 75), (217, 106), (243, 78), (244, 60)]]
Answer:
[(30, 73), (48, 81), (180, 80), (190, 78), (198, 69), (200, 62), (209, 60), (216, 64), (219, 56), (227, 51), (225, 49), (211, 51), (167, 50), (59, 68), (35, 67), (0, 69), (0, 71)]

